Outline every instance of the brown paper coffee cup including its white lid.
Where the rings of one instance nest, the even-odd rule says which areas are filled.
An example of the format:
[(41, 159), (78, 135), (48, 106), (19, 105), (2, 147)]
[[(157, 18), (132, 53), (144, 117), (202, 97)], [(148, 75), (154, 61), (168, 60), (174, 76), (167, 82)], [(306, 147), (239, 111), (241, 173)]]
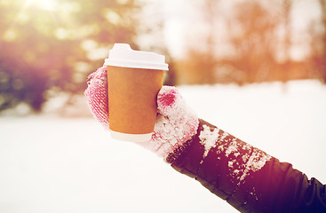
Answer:
[(150, 140), (157, 113), (156, 96), (163, 85), (164, 70), (168, 70), (165, 57), (133, 51), (126, 43), (115, 43), (104, 64), (112, 138)]

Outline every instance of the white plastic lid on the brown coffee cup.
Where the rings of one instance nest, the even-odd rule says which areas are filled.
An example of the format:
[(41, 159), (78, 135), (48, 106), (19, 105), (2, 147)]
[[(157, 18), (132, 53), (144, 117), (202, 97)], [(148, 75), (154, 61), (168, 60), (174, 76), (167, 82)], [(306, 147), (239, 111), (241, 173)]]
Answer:
[(150, 51), (133, 51), (128, 43), (115, 43), (104, 65), (169, 70), (163, 55)]

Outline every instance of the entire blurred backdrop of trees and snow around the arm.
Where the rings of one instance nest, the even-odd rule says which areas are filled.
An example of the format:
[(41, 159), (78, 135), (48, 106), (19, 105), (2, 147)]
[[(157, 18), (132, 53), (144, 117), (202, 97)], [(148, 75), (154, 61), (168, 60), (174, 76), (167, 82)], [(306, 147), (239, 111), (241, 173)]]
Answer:
[(114, 43), (165, 55), (200, 117), (325, 183), (326, 0), (0, 0), (1, 212), (236, 212), (92, 118)]

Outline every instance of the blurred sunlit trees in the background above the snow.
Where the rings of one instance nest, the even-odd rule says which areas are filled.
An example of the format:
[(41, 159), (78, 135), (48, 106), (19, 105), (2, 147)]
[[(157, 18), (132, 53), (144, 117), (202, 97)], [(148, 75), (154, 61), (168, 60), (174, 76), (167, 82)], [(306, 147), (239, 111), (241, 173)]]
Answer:
[(0, 112), (82, 94), (113, 43), (166, 55), (165, 84), (326, 81), (324, 0), (1, 0)]

